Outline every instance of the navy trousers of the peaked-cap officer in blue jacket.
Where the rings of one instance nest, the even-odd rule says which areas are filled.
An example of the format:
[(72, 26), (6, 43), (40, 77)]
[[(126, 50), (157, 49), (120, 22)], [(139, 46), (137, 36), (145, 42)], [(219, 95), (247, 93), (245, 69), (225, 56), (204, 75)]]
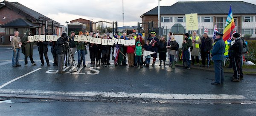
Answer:
[[(215, 70), (215, 83), (223, 83), (224, 81), (224, 73), (223, 73), (223, 68), (222, 60), (213, 60), (214, 62), (214, 70)], [(221, 81), (221, 82), (220, 82)]]

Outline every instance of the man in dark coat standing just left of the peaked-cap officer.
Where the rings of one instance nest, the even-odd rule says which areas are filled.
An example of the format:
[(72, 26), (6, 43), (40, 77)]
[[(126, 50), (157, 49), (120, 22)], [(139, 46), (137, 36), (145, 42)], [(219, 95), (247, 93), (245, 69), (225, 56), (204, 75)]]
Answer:
[(200, 54), (202, 58), (202, 65), (200, 67), (205, 67), (205, 59), (207, 59), (207, 67), (210, 64), (210, 51), (212, 49), (212, 39), (208, 37), (208, 33), (204, 32), (203, 38), (200, 45)]

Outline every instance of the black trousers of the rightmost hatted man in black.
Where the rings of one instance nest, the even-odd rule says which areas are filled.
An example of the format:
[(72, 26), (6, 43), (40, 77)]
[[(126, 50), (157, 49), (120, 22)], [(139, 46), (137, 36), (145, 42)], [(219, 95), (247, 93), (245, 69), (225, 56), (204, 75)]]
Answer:
[(242, 71), (242, 57), (233, 57), (233, 71), (233, 77), (235, 77), (236, 79), (243, 78), (244, 74)]

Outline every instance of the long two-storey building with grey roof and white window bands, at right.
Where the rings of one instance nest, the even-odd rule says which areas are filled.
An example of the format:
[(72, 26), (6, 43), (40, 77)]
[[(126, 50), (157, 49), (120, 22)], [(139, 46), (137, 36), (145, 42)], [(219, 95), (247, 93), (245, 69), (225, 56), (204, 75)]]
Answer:
[[(209, 37), (212, 37), (214, 25), (218, 31), (224, 31), (227, 14), (230, 9), (238, 33), (251, 34), (256, 37), (256, 5), (244, 1), (201, 1), (201, 2), (177, 2), (172, 6), (160, 6), (160, 31), (163, 35), (169, 32), (176, 34), (190, 33), (186, 30), (185, 14), (198, 14), (198, 34), (203, 34), (208, 29)], [(153, 28), (158, 27), (158, 7), (145, 12), (140, 17), (142, 23), (153, 21)], [(148, 33), (148, 25), (142, 25), (145, 33)]]

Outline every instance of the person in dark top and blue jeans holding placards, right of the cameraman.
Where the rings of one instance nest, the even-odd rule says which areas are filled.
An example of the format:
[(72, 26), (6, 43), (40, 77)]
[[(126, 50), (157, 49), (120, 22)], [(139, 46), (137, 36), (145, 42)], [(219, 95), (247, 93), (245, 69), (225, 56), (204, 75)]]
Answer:
[[(83, 32), (82, 31), (79, 31), (79, 35), (83, 36)], [(80, 41), (77, 41), (75, 42), (76, 44), (76, 49), (77, 49), (77, 54), (78, 54), (78, 65), (77, 67), (80, 68), (81, 66), (81, 63), (83, 61), (83, 66), (86, 67), (85, 65), (85, 51), (86, 51), (86, 41), (84, 42), (80, 42)]]

